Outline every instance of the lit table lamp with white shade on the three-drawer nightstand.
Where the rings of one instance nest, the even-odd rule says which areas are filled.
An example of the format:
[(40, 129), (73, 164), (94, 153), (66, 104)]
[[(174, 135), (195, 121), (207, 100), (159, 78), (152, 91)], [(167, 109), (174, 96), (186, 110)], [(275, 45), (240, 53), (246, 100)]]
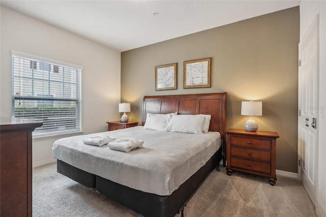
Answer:
[(255, 132), (258, 129), (257, 122), (253, 116), (262, 116), (262, 102), (261, 101), (242, 101), (241, 115), (250, 115), (250, 118), (244, 124), (246, 131)]

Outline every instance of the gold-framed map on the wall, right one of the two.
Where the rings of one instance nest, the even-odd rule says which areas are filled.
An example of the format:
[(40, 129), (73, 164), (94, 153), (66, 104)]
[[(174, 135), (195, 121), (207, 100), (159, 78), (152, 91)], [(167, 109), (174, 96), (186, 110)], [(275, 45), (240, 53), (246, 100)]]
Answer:
[(210, 88), (211, 58), (183, 62), (183, 88)]

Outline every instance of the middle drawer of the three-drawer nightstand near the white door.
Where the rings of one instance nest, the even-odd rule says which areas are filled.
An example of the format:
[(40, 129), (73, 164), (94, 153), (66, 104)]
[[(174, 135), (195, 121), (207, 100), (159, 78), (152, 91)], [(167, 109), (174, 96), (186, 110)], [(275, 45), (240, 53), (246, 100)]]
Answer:
[(261, 151), (249, 148), (231, 146), (231, 156), (270, 161), (270, 151)]

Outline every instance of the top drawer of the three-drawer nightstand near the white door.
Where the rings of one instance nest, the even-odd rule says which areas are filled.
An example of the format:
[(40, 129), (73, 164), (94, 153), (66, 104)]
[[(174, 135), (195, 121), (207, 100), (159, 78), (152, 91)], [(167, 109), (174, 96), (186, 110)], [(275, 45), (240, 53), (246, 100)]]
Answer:
[(270, 140), (231, 136), (231, 145), (270, 150)]

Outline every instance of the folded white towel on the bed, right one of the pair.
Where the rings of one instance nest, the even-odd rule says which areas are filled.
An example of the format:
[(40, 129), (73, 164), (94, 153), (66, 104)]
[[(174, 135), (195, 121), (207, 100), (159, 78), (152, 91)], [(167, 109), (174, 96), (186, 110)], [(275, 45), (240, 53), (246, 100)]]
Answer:
[(107, 144), (107, 146), (113, 150), (128, 152), (131, 149), (143, 147), (143, 140), (137, 140), (134, 138), (123, 138)]

